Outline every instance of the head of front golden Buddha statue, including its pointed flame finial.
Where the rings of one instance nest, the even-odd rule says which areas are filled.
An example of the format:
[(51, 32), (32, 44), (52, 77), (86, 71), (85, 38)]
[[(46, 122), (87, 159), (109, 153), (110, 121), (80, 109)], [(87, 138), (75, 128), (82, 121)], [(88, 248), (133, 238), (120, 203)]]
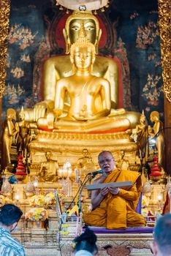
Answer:
[(84, 24), (80, 24), (79, 37), (70, 48), (70, 60), (77, 69), (89, 69), (95, 61), (95, 46), (85, 37)]

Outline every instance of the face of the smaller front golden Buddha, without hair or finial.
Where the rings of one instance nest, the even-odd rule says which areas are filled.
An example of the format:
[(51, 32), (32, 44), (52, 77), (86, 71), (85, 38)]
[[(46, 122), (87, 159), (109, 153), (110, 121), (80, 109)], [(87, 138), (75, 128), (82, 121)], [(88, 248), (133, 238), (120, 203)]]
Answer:
[(92, 64), (92, 52), (88, 47), (75, 48), (75, 67), (77, 69), (87, 69)]

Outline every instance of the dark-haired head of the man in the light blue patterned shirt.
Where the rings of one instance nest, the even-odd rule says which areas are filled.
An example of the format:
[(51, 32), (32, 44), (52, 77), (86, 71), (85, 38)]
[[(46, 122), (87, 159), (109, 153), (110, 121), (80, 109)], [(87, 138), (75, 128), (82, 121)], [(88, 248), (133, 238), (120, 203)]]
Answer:
[(7, 203), (0, 208), (0, 227), (4, 227), (5, 229), (12, 232), (15, 227), (18, 225), (20, 217), (23, 212), (11, 203)]

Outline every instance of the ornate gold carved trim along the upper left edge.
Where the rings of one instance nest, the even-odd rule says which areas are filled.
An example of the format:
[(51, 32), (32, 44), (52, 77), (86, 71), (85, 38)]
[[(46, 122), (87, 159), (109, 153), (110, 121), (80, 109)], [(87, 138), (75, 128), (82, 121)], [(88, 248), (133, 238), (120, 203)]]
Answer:
[(9, 30), (10, 0), (0, 1), (0, 98), (4, 93), (7, 62), (7, 36)]

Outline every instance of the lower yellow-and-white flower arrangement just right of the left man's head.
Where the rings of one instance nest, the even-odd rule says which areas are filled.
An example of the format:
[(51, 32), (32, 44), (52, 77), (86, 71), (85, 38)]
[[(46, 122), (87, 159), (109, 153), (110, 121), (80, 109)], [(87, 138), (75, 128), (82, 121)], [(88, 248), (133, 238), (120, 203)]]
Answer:
[(26, 213), (26, 219), (29, 219), (32, 222), (44, 221), (47, 219), (47, 211), (45, 208), (31, 208)]

